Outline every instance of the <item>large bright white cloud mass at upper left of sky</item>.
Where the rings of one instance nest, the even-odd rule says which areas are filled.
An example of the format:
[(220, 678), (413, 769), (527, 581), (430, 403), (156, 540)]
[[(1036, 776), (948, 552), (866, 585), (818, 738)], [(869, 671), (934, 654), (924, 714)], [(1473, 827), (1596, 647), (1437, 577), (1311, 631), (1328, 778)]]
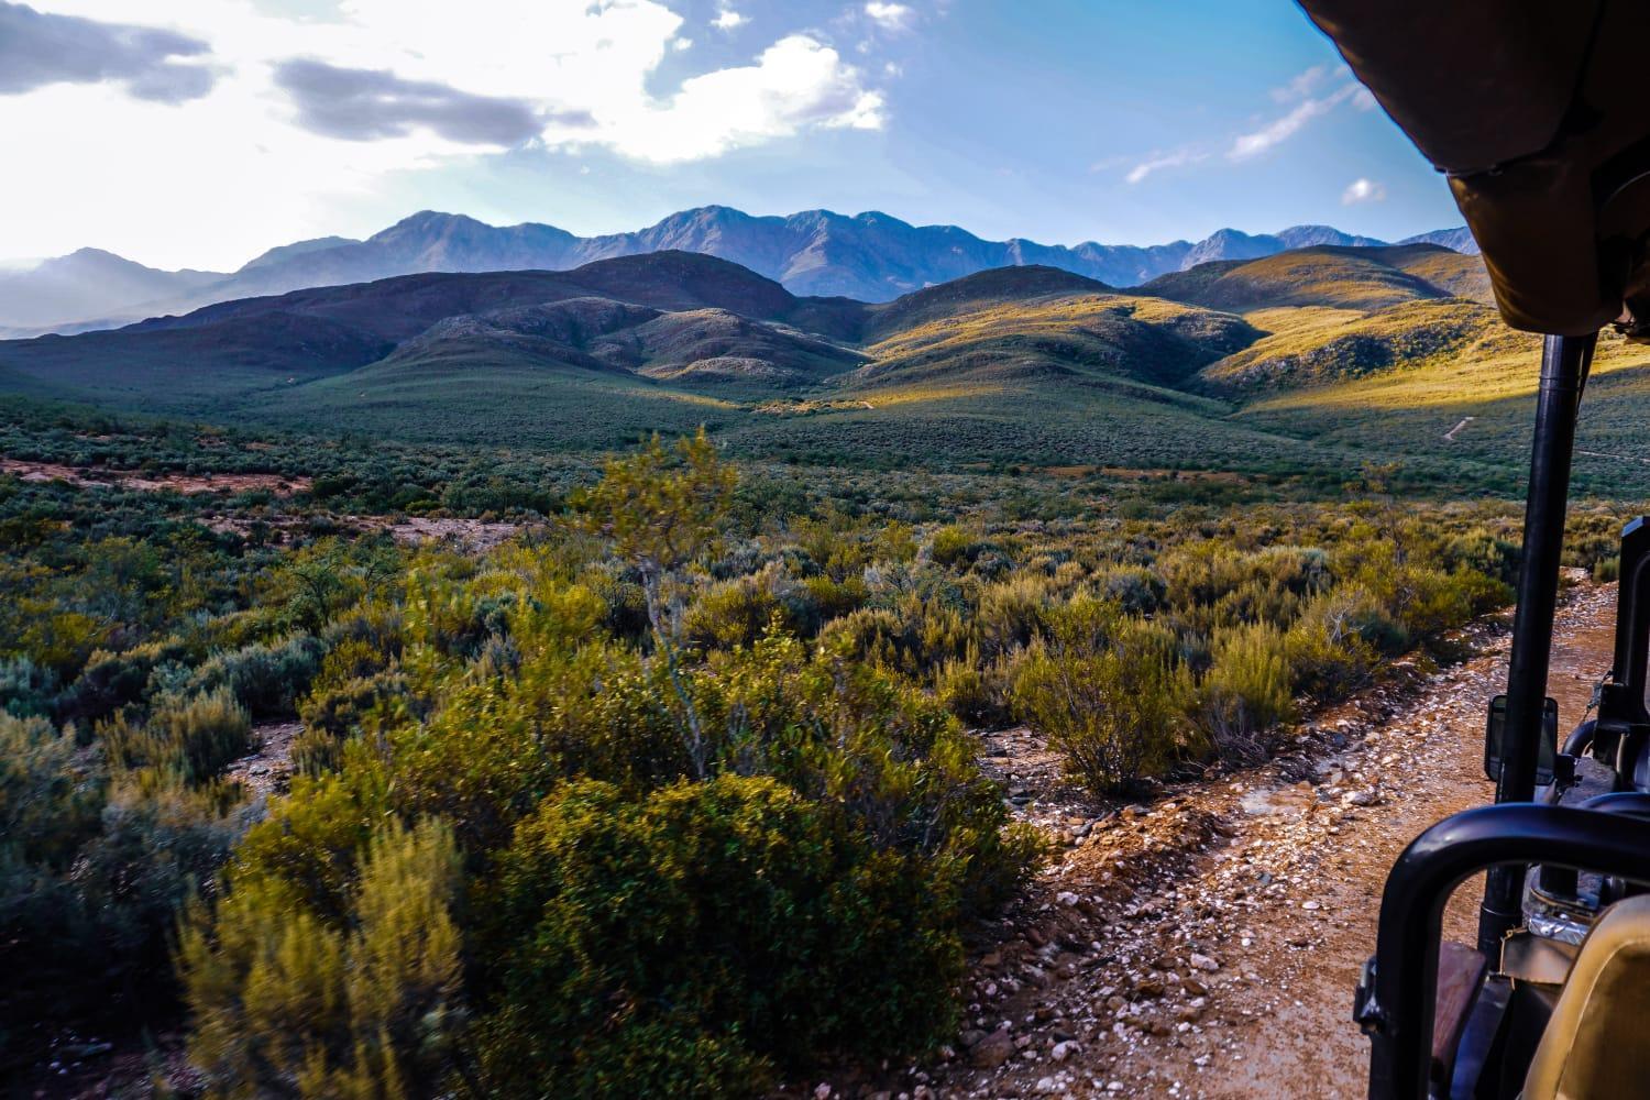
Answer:
[[(660, 64), (686, 40), (660, 0), (337, 0), (330, 20), (277, 16), (262, 0), (31, 3), (206, 43), (216, 79), (185, 102), (134, 97), (122, 81), (0, 92), (7, 148), (30, 153), (26, 168), (0, 173), (0, 251), (12, 256), (97, 244), (150, 264), (233, 267), (330, 231), (337, 211), (371, 208), (403, 173), (523, 137), (680, 163), (812, 129), (878, 129), (886, 115), (881, 66), (861, 71), (808, 35), (662, 87)], [(295, 59), (337, 79), (309, 81), (304, 99), (282, 69)], [(393, 114), (317, 127), (338, 81), (350, 94), (389, 89)], [(488, 125), (470, 125), (477, 110)], [(528, 112), (536, 132), (518, 125)]]

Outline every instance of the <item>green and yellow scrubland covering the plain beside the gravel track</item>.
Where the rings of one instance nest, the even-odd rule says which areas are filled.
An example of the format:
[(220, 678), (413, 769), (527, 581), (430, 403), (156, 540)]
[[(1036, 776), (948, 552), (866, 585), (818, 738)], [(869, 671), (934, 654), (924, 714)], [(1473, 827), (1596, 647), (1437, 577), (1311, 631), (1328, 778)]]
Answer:
[[(20, 412), (0, 480), (0, 1062), (183, 1019), (213, 1095), (728, 1095), (954, 1034), (1040, 858), (970, 731), (1094, 797), (1264, 755), (1503, 605), (1506, 503), (810, 472)], [(513, 523), (485, 554), (363, 518)], [(226, 521), (229, 519), (229, 521)], [(388, 519), (386, 519), (388, 521)], [(1577, 510), (1607, 576), (1615, 510)], [(302, 721), (289, 792), (224, 778)]]

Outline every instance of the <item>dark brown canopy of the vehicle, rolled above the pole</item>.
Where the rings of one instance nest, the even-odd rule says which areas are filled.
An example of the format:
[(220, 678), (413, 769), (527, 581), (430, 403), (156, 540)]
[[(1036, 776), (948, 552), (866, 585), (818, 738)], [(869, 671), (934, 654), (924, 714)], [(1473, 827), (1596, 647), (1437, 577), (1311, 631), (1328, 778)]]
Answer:
[(1300, 7), (1449, 176), (1508, 325), (1650, 335), (1650, 3)]

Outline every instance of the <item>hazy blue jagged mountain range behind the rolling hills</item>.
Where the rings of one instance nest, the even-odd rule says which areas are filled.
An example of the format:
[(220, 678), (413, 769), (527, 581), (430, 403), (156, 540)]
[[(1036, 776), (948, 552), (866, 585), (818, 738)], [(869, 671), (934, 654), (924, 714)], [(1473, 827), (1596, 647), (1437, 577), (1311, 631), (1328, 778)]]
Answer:
[[(1477, 252), (1465, 229), (1412, 241)], [(1221, 229), (1203, 241), (1150, 247), (1084, 242), (983, 241), (957, 226), (912, 226), (881, 213), (815, 209), (752, 216), (701, 206), (637, 233), (579, 237), (554, 226), (488, 226), (422, 211), (365, 241), (320, 237), (274, 247), (234, 272), (158, 270), (101, 249), (81, 249), (26, 269), (0, 269), (0, 336), (112, 328), (186, 313), (214, 302), (309, 287), (371, 282), (421, 272), (571, 270), (599, 259), (658, 251), (733, 261), (792, 294), (888, 302), (980, 270), (1044, 266), (1114, 287), (1132, 287), (1209, 261), (1241, 261), (1312, 246), (1379, 246), (1330, 226), (1247, 234)]]

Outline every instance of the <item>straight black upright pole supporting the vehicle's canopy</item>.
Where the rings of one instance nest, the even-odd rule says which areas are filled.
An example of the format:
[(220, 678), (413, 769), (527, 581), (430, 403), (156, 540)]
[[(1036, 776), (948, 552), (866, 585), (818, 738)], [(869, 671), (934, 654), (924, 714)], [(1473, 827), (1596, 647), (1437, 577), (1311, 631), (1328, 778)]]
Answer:
[[(1506, 671), (1506, 732), (1495, 801), (1530, 801), (1536, 793), (1536, 757), (1553, 655), (1558, 569), (1564, 549), (1569, 462), (1576, 445), (1581, 388), (1592, 364), (1592, 336), (1548, 336), (1541, 346), (1541, 391), (1530, 449), (1530, 495), (1525, 500), (1525, 549), (1518, 569), (1518, 610)], [(1523, 867), (1490, 871), (1478, 907), (1478, 950), (1495, 958), (1502, 937), (1520, 920)]]

